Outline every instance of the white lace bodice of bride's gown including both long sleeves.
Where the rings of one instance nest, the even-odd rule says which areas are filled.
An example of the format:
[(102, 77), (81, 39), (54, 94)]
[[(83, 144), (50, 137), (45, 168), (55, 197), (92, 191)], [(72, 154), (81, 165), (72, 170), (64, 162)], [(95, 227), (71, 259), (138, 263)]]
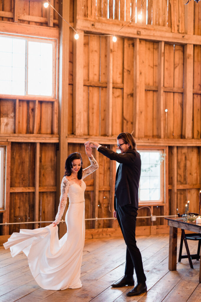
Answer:
[(91, 165), (82, 171), (82, 179), (81, 184), (77, 184), (74, 180), (68, 179), (66, 176), (63, 177), (61, 183), (61, 195), (60, 202), (58, 207), (58, 212), (56, 214), (55, 223), (59, 223), (61, 221), (65, 205), (67, 203), (67, 197), (69, 197), (69, 204), (78, 204), (85, 201), (85, 189), (86, 185), (83, 179), (87, 177), (89, 174), (93, 173), (98, 169), (98, 163), (94, 159), (93, 156), (89, 158)]

